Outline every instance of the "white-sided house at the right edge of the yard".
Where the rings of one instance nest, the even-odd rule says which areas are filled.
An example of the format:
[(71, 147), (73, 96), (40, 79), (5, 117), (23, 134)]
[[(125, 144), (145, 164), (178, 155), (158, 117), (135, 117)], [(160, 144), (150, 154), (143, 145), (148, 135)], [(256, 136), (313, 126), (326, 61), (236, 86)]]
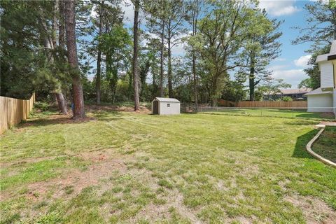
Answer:
[(308, 112), (333, 112), (336, 114), (336, 41), (332, 41), (329, 54), (316, 57), (321, 72), (321, 87), (308, 92)]

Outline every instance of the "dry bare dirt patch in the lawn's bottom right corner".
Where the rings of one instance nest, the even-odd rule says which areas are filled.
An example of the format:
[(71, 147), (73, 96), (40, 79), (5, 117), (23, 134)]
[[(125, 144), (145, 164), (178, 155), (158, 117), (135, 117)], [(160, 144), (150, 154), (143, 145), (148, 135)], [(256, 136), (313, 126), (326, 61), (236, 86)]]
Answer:
[(287, 202), (302, 210), (307, 223), (334, 223), (336, 211), (328, 207), (325, 202), (316, 197), (303, 197), (300, 195), (288, 195), (285, 197)]

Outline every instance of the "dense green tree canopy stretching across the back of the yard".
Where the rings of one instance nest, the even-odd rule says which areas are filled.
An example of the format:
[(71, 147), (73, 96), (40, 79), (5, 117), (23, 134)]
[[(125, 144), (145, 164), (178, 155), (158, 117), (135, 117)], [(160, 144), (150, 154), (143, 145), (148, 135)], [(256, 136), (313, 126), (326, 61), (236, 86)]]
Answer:
[[(71, 1), (73, 34), (64, 3), (1, 1), (1, 95), (36, 92), (52, 101), (62, 94), (76, 102), (82, 91), (85, 102), (96, 104), (161, 95), (215, 105), (221, 98), (255, 100), (259, 87), (279, 84), (267, 66), (281, 52), (281, 21), (258, 1), (134, 0), (134, 23), (125, 21), (125, 1)], [(310, 22), (321, 22), (318, 12), (328, 9), (332, 24), (333, 8), (323, 7), (307, 6)], [(329, 40), (327, 28), (315, 39)], [(304, 35), (295, 43), (308, 41), (311, 34)], [(185, 53), (176, 53), (181, 48)]]

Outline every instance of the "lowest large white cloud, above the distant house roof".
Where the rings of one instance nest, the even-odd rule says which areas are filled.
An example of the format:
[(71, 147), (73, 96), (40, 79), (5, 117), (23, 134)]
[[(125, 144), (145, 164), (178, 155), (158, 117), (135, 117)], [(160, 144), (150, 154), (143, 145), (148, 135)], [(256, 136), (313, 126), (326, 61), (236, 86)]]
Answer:
[(308, 77), (303, 69), (274, 70), (272, 76), (276, 79), (283, 79), (285, 83), (289, 83), (293, 88), (297, 87), (302, 80)]

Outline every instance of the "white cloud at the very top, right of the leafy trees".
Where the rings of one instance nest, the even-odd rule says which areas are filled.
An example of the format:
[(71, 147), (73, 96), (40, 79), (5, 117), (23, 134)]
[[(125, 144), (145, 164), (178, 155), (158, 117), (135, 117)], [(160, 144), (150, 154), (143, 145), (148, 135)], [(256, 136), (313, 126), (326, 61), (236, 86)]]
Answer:
[(297, 6), (294, 6), (294, 3), (294, 0), (261, 0), (259, 7), (265, 8), (270, 15), (291, 15), (300, 11)]

